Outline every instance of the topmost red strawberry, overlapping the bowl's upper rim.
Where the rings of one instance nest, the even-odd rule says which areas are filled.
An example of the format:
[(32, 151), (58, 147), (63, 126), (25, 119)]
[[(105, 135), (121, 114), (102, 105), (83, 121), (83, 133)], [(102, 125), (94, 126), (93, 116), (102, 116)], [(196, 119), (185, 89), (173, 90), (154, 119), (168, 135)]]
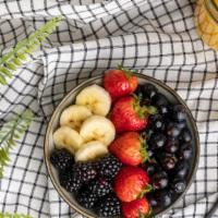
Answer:
[(104, 87), (112, 100), (130, 95), (137, 87), (137, 77), (130, 70), (109, 70), (104, 76)]

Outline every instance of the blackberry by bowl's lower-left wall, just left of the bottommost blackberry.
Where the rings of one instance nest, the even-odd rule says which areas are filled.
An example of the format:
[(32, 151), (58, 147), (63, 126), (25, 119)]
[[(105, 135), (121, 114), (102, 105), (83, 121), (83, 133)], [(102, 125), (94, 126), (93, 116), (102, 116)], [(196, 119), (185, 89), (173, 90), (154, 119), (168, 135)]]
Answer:
[(87, 190), (78, 192), (76, 195), (77, 202), (86, 209), (92, 209), (97, 201), (97, 196), (89, 193)]

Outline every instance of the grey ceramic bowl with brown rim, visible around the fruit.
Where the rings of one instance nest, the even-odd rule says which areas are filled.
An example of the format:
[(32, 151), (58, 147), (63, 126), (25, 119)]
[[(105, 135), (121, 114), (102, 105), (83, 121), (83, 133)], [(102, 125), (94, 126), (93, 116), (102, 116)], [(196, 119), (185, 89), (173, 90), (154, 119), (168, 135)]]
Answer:
[[(186, 191), (189, 190), (190, 185), (193, 182), (193, 179), (195, 177), (196, 170), (197, 170), (197, 165), (198, 165), (198, 158), (199, 158), (199, 138), (198, 138), (198, 133), (197, 133), (197, 128), (195, 124), (195, 121), (192, 117), (192, 113), (190, 111), (190, 109), (187, 108), (187, 106), (185, 105), (185, 102), (181, 99), (181, 97), (173, 90), (171, 89), (169, 86), (167, 86), (166, 84), (143, 75), (143, 74), (136, 74), (138, 77), (138, 83), (143, 84), (143, 83), (150, 83), (153, 85), (155, 85), (159, 93), (164, 94), (169, 101), (171, 101), (172, 104), (181, 104), (183, 106), (185, 106), (186, 109), (186, 122), (187, 122), (187, 126), (191, 130), (192, 133), (192, 147), (193, 147), (193, 158), (191, 161), (191, 169), (190, 172), (187, 174), (186, 178), (186, 182), (187, 182), (187, 186), (185, 189), (185, 191), (168, 207), (164, 208), (162, 210), (158, 211), (156, 214), (156, 216), (161, 216), (165, 213), (167, 213), (170, 208), (172, 208), (173, 206), (177, 205), (177, 203), (179, 201), (181, 201), (181, 198), (185, 195)], [(56, 108), (50, 122), (48, 124), (47, 128), (47, 132), (46, 132), (46, 138), (45, 138), (45, 144), (44, 144), (44, 155), (45, 155), (45, 161), (46, 161), (46, 166), (48, 169), (48, 173), (49, 177), (53, 183), (55, 189), (57, 190), (57, 192), (59, 193), (59, 195), (70, 205), (70, 207), (72, 207), (73, 209), (75, 209), (77, 213), (84, 215), (85, 217), (89, 217), (89, 218), (96, 218), (98, 217), (96, 214), (94, 214), (92, 210), (85, 209), (83, 208), (81, 205), (78, 205), (74, 198), (74, 196), (66, 192), (59, 182), (58, 179), (58, 172), (57, 170), (53, 168), (53, 166), (50, 162), (50, 153), (51, 150), (55, 148), (55, 144), (53, 144), (53, 140), (52, 140), (52, 134), (55, 132), (55, 130), (58, 129), (59, 126), (59, 120), (60, 120), (60, 114), (63, 111), (63, 109), (65, 109), (68, 106), (72, 105), (72, 102), (74, 102), (75, 100), (75, 96), (86, 86), (89, 86), (92, 84), (99, 84), (101, 85), (101, 81), (102, 81), (102, 76), (96, 76), (93, 77), (90, 80), (87, 80), (86, 82), (80, 84), (77, 87), (75, 87), (74, 89), (72, 89), (63, 99), (62, 101), (59, 104), (59, 106)]]

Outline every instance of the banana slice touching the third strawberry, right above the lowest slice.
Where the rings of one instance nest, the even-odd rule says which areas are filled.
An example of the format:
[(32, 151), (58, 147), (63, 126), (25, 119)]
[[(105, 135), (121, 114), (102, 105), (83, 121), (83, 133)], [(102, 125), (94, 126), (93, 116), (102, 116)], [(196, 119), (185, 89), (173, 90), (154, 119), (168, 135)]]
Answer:
[(85, 142), (100, 141), (108, 146), (116, 137), (116, 129), (109, 119), (92, 116), (82, 124), (80, 134)]

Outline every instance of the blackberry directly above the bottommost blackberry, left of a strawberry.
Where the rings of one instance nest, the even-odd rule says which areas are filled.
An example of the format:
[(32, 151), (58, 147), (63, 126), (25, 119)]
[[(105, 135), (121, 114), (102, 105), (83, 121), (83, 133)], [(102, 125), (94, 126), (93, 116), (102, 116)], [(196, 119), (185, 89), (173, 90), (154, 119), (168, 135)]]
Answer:
[(87, 189), (89, 193), (96, 195), (97, 197), (101, 197), (112, 192), (112, 184), (108, 179), (97, 178), (88, 183)]

